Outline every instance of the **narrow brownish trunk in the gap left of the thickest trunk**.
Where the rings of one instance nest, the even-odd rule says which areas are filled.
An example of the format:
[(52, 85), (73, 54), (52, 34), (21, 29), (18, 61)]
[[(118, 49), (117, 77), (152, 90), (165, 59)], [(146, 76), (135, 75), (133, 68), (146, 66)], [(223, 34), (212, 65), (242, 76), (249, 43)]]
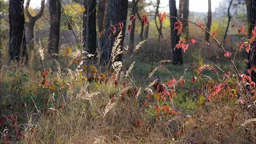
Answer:
[[(104, 30), (104, 19), (105, 17), (105, 10), (106, 10), (106, 0), (102, 0), (98, 4), (98, 11), (97, 11), (97, 18), (98, 18), (98, 32), (103, 33)], [(103, 37), (99, 38), (99, 44), (102, 43)], [(101, 47), (101, 46), (100, 46)]]

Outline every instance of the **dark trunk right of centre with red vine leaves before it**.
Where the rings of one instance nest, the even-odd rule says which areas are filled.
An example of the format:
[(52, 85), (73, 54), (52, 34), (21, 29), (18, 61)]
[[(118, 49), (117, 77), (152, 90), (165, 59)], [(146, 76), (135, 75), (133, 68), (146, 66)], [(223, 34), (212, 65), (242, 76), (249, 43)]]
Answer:
[[(176, 0), (169, 0), (170, 6), (170, 15), (177, 17), (177, 8), (176, 8)], [(173, 63), (182, 65), (182, 49), (177, 49), (175, 46), (178, 44), (179, 37), (178, 37), (178, 30), (174, 30), (174, 23), (177, 22), (177, 18), (170, 18), (170, 34), (171, 34), (171, 49), (173, 51)]]

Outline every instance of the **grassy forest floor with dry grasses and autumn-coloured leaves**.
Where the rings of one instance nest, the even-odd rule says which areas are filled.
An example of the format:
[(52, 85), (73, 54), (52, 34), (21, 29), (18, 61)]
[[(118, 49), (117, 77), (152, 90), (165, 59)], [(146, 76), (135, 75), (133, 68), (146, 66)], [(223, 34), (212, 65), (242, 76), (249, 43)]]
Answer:
[[(2, 68), (1, 143), (256, 142), (255, 107), (210, 63), (130, 58), (118, 77), (60, 59)], [(209, 99), (223, 81), (230, 89)]]

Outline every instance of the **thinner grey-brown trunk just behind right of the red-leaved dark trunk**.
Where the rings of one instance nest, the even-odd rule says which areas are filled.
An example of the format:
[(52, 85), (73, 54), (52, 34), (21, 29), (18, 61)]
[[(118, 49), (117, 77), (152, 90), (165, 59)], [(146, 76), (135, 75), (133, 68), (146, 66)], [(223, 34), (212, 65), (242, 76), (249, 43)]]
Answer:
[[(190, 15), (190, 0), (179, 0), (178, 17), (189, 19), (189, 15)], [(183, 31), (185, 32), (184, 34), (186, 34), (186, 39), (187, 39), (189, 36), (189, 23), (182, 20), (181, 22), (183, 23)]]

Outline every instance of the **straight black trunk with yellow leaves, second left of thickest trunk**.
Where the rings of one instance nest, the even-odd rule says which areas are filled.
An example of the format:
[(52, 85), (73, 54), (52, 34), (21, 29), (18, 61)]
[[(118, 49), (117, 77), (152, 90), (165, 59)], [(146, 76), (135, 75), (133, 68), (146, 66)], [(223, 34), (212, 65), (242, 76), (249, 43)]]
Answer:
[(84, 48), (89, 54), (96, 54), (96, 0), (85, 0), (83, 5), (86, 8), (86, 17), (83, 17)]

